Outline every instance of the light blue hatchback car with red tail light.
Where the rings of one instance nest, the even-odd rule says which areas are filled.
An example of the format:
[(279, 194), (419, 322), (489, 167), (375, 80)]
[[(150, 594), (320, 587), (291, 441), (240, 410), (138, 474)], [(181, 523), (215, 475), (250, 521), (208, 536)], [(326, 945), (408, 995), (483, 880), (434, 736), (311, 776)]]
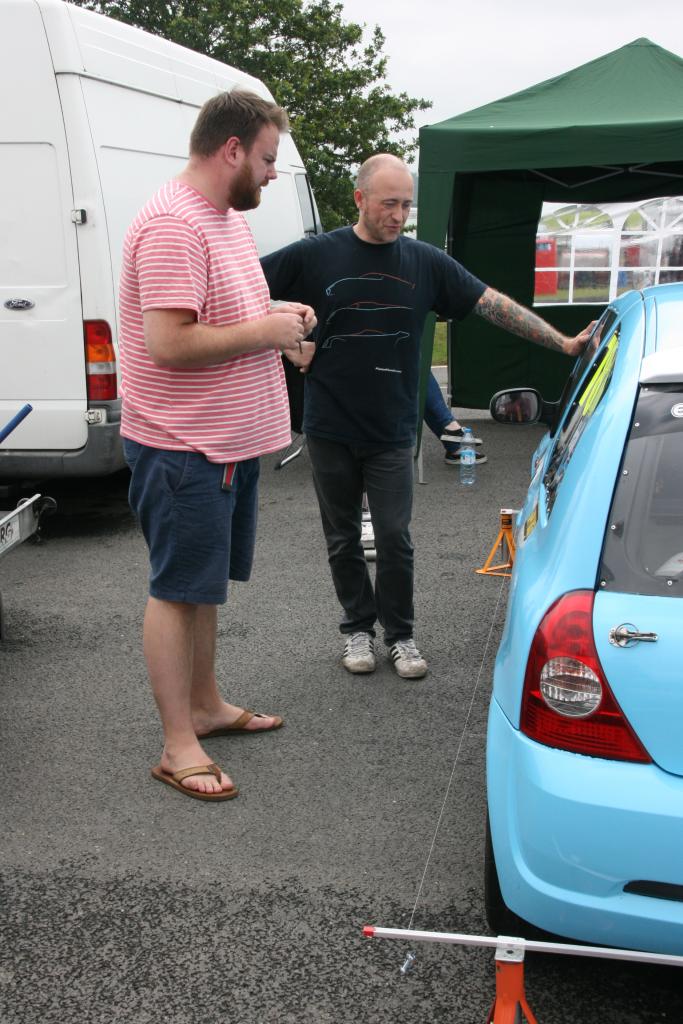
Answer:
[(559, 402), (490, 409), (550, 429), (494, 674), (488, 924), (683, 954), (683, 285), (610, 305)]

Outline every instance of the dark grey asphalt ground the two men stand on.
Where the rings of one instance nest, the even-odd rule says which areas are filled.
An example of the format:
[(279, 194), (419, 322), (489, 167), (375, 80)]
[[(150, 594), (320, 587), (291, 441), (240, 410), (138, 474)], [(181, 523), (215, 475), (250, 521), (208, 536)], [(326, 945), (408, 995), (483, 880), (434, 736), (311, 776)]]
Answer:
[[(474, 487), (423, 446), (419, 682), (381, 645), (375, 674), (341, 667), (305, 450), (283, 470), (263, 460), (254, 573), (220, 612), (217, 660), (230, 699), (286, 726), (207, 744), (241, 787), (226, 804), (150, 776), (161, 732), (126, 475), (41, 487), (58, 503), (44, 542), (0, 561), (2, 1024), (483, 1024), (490, 950), (361, 935), (487, 934), (485, 719), (509, 584), (474, 569), (541, 430), (465, 422), (488, 456)], [(539, 1024), (683, 1021), (673, 969), (529, 955), (526, 990)]]

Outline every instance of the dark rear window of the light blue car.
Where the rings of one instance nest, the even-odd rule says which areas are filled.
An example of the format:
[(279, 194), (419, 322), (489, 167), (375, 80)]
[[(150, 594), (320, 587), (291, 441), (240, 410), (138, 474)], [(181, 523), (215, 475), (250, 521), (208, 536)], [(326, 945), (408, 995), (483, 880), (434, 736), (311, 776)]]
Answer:
[(683, 383), (640, 389), (598, 583), (608, 591), (683, 597)]

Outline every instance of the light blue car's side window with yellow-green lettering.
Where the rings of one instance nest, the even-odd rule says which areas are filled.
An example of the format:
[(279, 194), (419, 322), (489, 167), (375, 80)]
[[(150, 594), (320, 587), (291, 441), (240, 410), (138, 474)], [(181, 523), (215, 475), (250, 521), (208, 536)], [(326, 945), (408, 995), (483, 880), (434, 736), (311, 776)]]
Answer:
[[(579, 390), (572, 396), (564, 421), (558, 431), (546, 475), (543, 478), (548, 515), (553, 510), (558, 487), (564, 478), (566, 467), (575, 451), (579, 439), (602, 401), (612, 378), (618, 349), (618, 326), (612, 328), (605, 323), (605, 328), (607, 330), (603, 332), (601, 337), (606, 340), (600, 345), (597, 355), (595, 349), (589, 345), (591, 351), (584, 352), (584, 355), (578, 360), (581, 364), (590, 357), (593, 359), (593, 365), (582, 380)], [(580, 374), (577, 374), (575, 379), (580, 379)]]

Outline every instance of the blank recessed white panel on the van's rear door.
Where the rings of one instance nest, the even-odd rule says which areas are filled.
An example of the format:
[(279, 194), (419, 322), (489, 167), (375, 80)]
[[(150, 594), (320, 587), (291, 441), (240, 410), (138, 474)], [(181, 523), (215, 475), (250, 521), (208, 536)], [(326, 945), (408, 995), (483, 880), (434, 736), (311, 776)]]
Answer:
[[(4, 288), (63, 286), (65, 202), (54, 148), (47, 142), (0, 144), (3, 203), (0, 282)], [(74, 228), (75, 230), (75, 228)]]

